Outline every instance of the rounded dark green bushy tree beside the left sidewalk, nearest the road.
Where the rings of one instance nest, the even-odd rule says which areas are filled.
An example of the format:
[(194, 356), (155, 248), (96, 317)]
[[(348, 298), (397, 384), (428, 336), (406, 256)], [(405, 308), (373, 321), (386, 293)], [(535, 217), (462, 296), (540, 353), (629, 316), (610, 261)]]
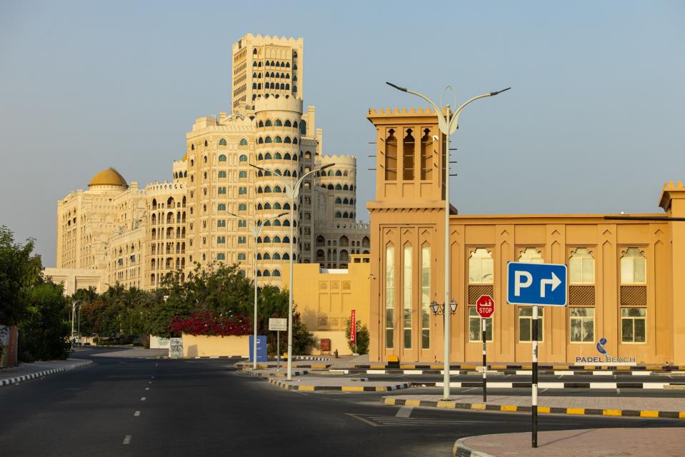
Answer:
[(69, 323), (64, 316), (67, 298), (61, 285), (33, 286), (19, 321), (19, 359), (25, 362), (66, 358), (70, 350)]

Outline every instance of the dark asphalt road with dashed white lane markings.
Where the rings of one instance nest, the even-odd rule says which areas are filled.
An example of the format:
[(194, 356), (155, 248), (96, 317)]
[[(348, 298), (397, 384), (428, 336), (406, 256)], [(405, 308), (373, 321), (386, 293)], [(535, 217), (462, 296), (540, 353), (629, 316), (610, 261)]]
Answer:
[[(377, 394), (284, 391), (226, 360), (92, 359), (88, 368), (0, 388), (2, 456), (448, 456), (457, 438), (530, 428), (522, 414), (408, 410), (381, 405)], [(541, 421), (541, 430), (616, 426), (681, 423)]]

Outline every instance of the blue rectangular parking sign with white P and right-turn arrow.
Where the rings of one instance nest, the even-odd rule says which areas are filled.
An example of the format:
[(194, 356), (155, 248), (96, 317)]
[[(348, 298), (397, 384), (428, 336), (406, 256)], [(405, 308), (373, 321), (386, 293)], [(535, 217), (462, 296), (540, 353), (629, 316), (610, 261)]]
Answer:
[(566, 306), (566, 265), (510, 262), (506, 272), (510, 304)]

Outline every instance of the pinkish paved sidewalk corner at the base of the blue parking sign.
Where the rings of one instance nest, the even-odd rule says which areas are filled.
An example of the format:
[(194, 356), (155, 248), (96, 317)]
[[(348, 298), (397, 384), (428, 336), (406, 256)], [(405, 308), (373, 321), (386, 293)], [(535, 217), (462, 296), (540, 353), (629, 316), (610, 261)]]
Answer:
[(499, 433), (463, 438), (454, 443), (460, 457), (605, 457), (682, 456), (685, 428), (588, 428), (543, 431), (538, 447), (531, 433)]

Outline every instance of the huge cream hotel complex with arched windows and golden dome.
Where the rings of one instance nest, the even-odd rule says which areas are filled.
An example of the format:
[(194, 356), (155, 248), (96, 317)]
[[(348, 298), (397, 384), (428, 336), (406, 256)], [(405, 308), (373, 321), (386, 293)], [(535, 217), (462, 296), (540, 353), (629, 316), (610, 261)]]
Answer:
[[(214, 261), (239, 263), (251, 277), (256, 243), (258, 280), (279, 284), (291, 242), (284, 180), (326, 164), (335, 165), (311, 174), (295, 202), (294, 260), (346, 268), (351, 255), (369, 253), (369, 224), (356, 221), (356, 158), (324, 156), (314, 106), (303, 109), (302, 58), (301, 38), (239, 39), (231, 114), (196, 119), (171, 182), (129, 186), (109, 168), (58, 201), (56, 267), (46, 275), (67, 293), (155, 288), (172, 271), (185, 277)], [(251, 224), (267, 219), (254, 239)]]

